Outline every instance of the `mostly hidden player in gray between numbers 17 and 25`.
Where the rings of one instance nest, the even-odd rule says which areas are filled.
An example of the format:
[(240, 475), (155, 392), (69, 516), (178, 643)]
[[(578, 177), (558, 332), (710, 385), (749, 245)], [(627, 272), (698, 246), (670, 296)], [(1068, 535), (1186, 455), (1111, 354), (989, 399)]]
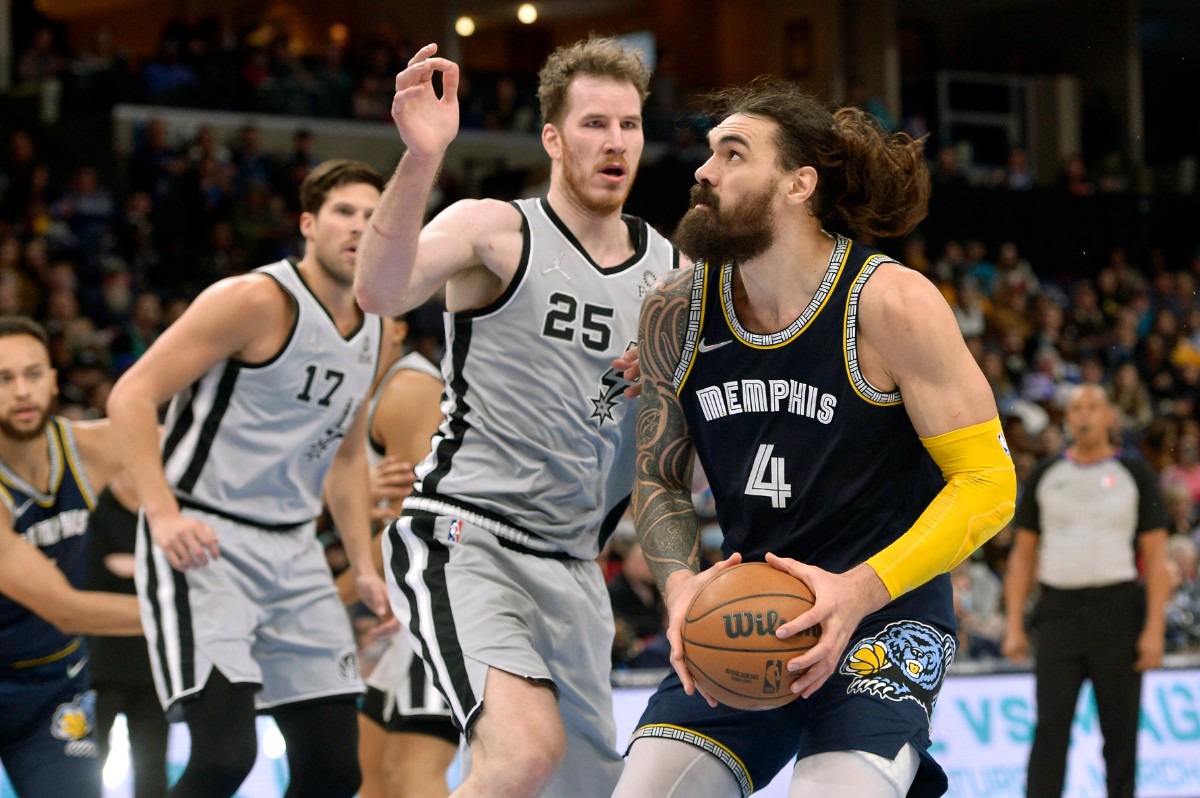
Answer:
[[(408, 323), (402, 317), (389, 319), (384, 329), (398, 350)], [(430, 454), (430, 440), (443, 418), (440, 396), (442, 373), (424, 355), (410, 352), (388, 368), (367, 410), (373, 478), (384, 461), (403, 467)], [(448, 796), (446, 770), (458, 750), (458, 730), (404, 636), (388, 638), (366, 683), (359, 708), (360, 798)]]

